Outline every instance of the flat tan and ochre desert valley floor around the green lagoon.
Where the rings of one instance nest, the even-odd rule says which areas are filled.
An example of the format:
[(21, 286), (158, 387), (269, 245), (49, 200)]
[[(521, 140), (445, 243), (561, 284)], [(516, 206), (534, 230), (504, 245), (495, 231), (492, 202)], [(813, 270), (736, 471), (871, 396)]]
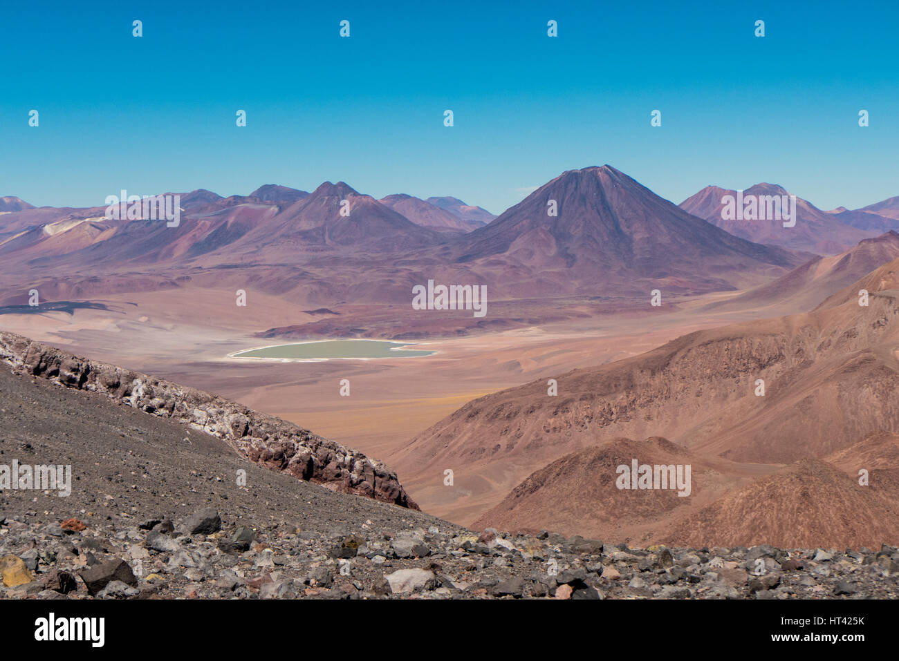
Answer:
[[(635, 306), (623, 314), (601, 313), (584, 301), (578, 306), (582, 316), (574, 320), (426, 339), (436, 355), (380, 360), (229, 358), (234, 351), (267, 343), (255, 332), (309, 315), (274, 298), (257, 297), (252, 306), (236, 308), (234, 292), (227, 290), (139, 299), (122, 295), (100, 301), (113, 312), (4, 314), (0, 323), (4, 330), (76, 355), (216, 392), (402, 467), (410, 439), (481, 395), (635, 356), (688, 332), (758, 316), (752, 310), (695, 312), (730, 296), (684, 298), (660, 309), (647, 300), (645, 309)], [(339, 392), (344, 378), (351, 382), (349, 397)], [(443, 485), (442, 470), (399, 472), (424, 511), (466, 525), (541, 465), (524, 463), (502, 473), (490, 468), (468, 473), (448, 465), (455, 473), (453, 487)]]

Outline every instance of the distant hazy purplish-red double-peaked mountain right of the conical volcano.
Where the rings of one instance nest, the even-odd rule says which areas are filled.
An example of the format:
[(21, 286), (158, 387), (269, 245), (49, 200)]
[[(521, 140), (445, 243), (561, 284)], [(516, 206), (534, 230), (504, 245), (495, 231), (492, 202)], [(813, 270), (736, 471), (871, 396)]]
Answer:
[[(845, 251), (869, 236), (879, 234), (877, 230), (861, 230), (842, 223), (839, 216), (828, 214), (811, 202), (797, 198), (797, 221), (793, 227), (784, 227), (780, 220), (725, 220), (722, 210), (725, 195), (736, 196), (736, 190), (707, 186), (690, 198), (681, 202), (685, 211), (708, 220), (735, 236), (748, 241), (777, 245), (789, 250), (811, 251), (822, 255), (832, 255)], [(777, 184), (758, 183), (743, 190), (743, 196), (789, 195)], [(882, 231), (882, 230), (881, 230)]]

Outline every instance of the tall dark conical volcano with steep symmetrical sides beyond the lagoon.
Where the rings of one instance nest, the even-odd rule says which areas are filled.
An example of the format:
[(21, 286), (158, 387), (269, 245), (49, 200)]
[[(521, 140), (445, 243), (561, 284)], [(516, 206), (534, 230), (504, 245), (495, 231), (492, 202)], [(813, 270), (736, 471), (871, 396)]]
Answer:
[(537, 269), (560, 291), (598, 295), (733, 289), (798, 263), (691, 216), (610, 165), (564, 172), (459, 239), (454, 254), (459, 263)]

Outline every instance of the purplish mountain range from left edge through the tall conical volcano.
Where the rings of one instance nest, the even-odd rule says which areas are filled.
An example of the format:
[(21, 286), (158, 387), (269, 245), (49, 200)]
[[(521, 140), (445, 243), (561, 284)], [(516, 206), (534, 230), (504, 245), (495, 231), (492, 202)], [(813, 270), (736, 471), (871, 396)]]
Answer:
[[(177, 227), (108, 220), (104, 207), (6, 199), (21, 208), (0, 220), (0, 256), (11, 274), (40, 272), (54, 297), (99, 293), (85, 274), (118, 274), (118, 290), (127, 291), (184, 286), (186, 278), (204, 286), (221, 281), (222, 269), (274, 293), (302, 281), (309, 304), (400, 302), (430, 278), (485, 284), (494, 299), (642, 297), (656, 288), (698, 294), (761, 285), (811, 257), (725, 232), (609, 165), (564, 172), (493, 219), (457, 198), (378, 200), (344, 182), (311, 193), (266, 185), (228, 198), (194, 190), (181, 196)], [(334, 277), (334, 259), (345, 279)], [(6, 303), (21, 295), (3, 287)]]

